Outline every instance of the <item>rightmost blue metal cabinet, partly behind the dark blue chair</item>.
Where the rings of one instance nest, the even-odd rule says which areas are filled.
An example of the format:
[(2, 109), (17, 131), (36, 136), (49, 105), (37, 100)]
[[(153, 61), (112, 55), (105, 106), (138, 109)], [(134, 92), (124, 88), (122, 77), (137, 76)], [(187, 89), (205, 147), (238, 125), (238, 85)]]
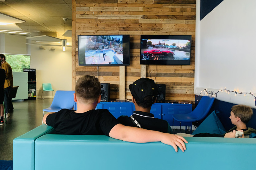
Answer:
[[(180, 126), (180, 122), (174, 120), (173, 114), (186, 114), (192, 112), (192, 104), (163, 104), (163, 120), (167, 120), (170, 125)], [(182, 122), (181, 126), (190, 126), (191, 123)]]

